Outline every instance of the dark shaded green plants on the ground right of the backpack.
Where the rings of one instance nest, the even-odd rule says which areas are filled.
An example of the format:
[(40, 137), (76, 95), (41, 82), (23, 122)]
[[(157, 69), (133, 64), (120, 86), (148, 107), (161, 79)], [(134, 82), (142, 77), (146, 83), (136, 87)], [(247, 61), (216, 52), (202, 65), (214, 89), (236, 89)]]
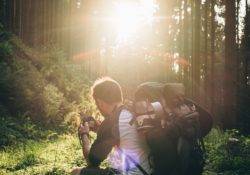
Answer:
[(213, 129), (206, 138), (207, 170), (217, 173), (248, 174), (250, 172), (250, 138), (237, 130)]

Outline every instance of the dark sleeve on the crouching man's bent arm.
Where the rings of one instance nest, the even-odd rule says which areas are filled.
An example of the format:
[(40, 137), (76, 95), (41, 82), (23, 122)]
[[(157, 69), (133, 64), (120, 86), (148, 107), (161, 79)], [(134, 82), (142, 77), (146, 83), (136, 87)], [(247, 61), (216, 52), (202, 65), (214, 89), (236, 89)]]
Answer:
[(90, 148), (88, 159), (91, 166), (98, 167), (112, 148), (119, 143), (118, 132), (116, 124), (103, 123), (97, 132), (97, 139)]

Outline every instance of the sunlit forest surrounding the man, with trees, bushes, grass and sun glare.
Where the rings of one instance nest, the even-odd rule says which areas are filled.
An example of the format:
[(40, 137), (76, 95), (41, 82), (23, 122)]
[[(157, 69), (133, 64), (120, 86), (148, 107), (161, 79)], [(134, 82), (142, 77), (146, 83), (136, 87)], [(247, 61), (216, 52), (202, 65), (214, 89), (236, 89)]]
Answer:
[(0, 0), (0, 174), (86, 166), (80, 115), (102, 119), (105, 76), (129, 100), (183, 83), (213, 117), (203, 175), (250, 174), (249, 0)]

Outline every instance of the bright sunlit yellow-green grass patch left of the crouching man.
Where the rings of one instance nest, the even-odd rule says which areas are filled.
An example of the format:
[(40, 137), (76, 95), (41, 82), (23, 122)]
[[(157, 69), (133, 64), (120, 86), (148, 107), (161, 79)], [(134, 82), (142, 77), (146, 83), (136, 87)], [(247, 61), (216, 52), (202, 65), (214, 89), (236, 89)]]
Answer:
[(85, 165), (79, 141), (73, 135), (7, 147), (0, 157), (0, 174), (69, 174), (72, 167)]

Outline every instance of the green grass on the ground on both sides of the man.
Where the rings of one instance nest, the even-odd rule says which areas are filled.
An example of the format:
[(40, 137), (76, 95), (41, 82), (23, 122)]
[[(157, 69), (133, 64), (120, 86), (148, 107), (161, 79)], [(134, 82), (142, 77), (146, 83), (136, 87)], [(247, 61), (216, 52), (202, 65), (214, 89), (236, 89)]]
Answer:
[[(238, 139), (236, 145), (231, 147), (229, 138)], [(249, 137), (241, 136), (237, 131), (213, 129), (205, 139), (205, 145), (207, 160), (203, 175), (250, 174)], [(0, 151), (1, 175), (65, 175), (73, 167), (85, 165), (79, 140), (72, 134), (28, 140)], [(102, 164), (105, 166), (107, 162)]]

